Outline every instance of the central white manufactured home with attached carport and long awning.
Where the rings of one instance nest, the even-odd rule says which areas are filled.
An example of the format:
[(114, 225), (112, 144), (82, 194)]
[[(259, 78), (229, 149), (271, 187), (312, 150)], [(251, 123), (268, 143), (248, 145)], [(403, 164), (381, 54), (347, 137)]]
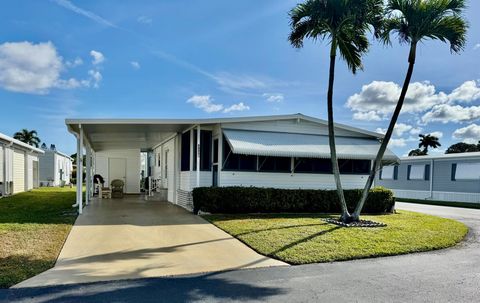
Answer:
[[(327, 123), (302, 114), (218, 119), (67, 119), (86, 151), (87, 203), (92, 175), (107, 184), (125, 182), (140, 193), (141, 155), (146, 175), (167, 200), (192, 207), (199, 186), (258, 186), (334, 189)], [(380, 146), (381, 134), (337, 124), (337, 154), (345, 188), (362, 188)], [(82, 157), (77, 157), (77, 165)], [(387, 151), (386, 161), (398, 158)], [(77, 172), (77, 180), (82, 172)], [(77, 194), (77, 204), (81, 199)], [(78, 204), (80, 205), (80, 204)], [(81, 209), (81, 208), (80, 208)]]

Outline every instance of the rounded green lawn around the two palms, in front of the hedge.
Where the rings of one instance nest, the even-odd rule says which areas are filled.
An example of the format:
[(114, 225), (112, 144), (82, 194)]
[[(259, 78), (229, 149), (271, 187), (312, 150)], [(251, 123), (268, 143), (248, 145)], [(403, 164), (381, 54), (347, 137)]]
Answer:
[(398, 211), (362, 216), (382, 228), (344, 228), (315, 214), (205, 215), (204, 218), (257, 252), (290, 264), (398, 255), (450, 247), (468, 228), (457, 221)]

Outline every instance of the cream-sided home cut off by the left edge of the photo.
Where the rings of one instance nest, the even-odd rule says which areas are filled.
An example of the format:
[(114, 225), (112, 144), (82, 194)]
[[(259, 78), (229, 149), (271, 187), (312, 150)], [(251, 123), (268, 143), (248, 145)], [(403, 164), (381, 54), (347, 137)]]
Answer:
[(43, 150), (0, 133), (0, 196), (39, 186), (41, 154)]

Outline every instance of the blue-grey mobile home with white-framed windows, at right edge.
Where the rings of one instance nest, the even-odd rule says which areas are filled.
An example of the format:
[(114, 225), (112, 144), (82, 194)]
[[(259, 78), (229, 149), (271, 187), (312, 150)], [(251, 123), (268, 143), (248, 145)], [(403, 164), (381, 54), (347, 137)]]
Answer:
[(480, 152), (401, 158), (385, 166), (376, 185), (397, 198), (480, 202)]

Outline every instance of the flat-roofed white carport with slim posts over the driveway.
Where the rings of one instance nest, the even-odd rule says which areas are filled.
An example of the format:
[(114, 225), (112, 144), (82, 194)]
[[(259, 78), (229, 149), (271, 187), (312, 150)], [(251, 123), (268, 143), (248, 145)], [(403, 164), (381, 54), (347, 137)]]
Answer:
[[(169, 173), (169, 201), (176, 201), (177, 180), (179, 174), (179, 149), (178, 134), (194, 129), (200, 134), (200, 123), (207, 124), (209, 120), (201, 120), (195, 124), (195, 120), (180, 119), (67, 119), (67, 128), (77, 139), (77, 167), (83, 167), (83, 155), (85, 155), (86, 167), (86, 195), (85, 205), (88, 205), (93, 197), (93, 175), (103, 172), (111, 174), (112, 168), (117, 168), (119, 178), (124, 178), (127, 193), (140, 193), (140, 153), (149, 152), (155, 147), (172, 142), (171, 151), (164, 159), (171, 163)], [(202, 125), (203, 126), (203, 125)], [(197, 135), (196, 146), (200, 146), (200, 135)], [(85, 152), (85, 154), (84, 154)], [(197, 158), (200, 155), (197, 155)], [(125, 159), (125, 167), (118, 169)], [(197, 160), (197, 165), (200, 161)], [(121, 176), (121, 171), (125, 175)], [(197, 181), (200, 170), (197, 169)], [(83, 170), (77, 169), (77, 197), (75, 207), (82, 213), (82, 184)], [(111, 178), (108, 178), (109, 180)], [(111, 180), (109, 180), (110, 182)], [(107, 183), (108, 184), (108, 183)], [(198, 184), (198, 183), (197, 183)]]

